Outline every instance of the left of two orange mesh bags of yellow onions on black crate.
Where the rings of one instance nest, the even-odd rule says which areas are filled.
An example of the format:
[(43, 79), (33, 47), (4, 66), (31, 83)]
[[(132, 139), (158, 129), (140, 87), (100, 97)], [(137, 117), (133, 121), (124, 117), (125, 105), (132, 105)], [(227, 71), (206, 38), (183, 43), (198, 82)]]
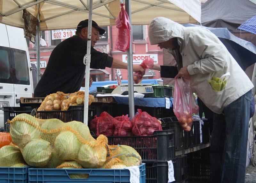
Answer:
[(41, 103), (38, 111), (59, 111), (61, 108), (61, 103), (66, 100), (66, 94), (58, 91), (57, 93), (52, 93), (45, 97), (44, 101)]

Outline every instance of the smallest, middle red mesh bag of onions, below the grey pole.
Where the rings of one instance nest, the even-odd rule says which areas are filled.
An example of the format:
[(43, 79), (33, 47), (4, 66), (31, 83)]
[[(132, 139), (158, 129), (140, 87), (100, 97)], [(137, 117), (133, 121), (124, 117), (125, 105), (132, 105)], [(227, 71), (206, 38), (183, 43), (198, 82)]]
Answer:
[(115, 131), (114, 136), (131, 136), (132, 135), (132, 122), (130, 121), (128, 114), (117, 116), (115, 119), (118, 122), (115, 122)]

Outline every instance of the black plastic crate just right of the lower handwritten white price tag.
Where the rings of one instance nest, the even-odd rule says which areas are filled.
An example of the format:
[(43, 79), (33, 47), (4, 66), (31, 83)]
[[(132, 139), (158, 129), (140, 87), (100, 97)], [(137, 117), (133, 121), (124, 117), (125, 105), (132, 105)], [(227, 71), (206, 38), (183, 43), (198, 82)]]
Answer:
[(185, 182), (188, 179), (187, 155), (176, 156), (173, 160), (173, 166), (175, 182)]

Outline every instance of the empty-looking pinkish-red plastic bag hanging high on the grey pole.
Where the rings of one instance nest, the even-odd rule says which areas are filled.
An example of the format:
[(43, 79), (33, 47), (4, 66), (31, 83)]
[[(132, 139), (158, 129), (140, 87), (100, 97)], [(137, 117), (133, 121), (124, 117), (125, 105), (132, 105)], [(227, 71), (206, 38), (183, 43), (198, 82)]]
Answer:
[(130, 46), (131, 26), (129, 17), (124, 10), (124, 4), (121, 5), (121, 11), (116, 18), (116, 28), (118, 28), (116, 47), (119, 51), (127, 51)]

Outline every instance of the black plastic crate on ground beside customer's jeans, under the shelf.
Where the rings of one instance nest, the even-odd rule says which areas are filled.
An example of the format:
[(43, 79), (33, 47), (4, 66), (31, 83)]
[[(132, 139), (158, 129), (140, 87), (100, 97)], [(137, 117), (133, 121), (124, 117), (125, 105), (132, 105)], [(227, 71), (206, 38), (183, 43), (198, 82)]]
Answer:
[(189, 182), (207, 182), (211, 175), (210, 147), (188, 153)]

